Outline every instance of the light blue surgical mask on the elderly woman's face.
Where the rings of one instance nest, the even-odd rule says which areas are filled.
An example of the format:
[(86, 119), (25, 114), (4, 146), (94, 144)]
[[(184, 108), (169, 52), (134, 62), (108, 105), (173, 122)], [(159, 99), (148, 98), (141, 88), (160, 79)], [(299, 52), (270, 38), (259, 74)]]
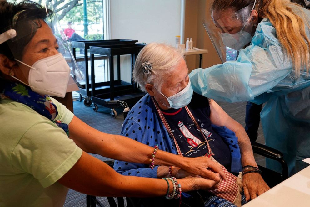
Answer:
[[(163, 95), (163, 96), (165, 96), (165, 95)], [(191, 85), (191, 80), (188, 80), (187, 86), (182, 91), (180, 91), (180, 92), (178, 92), (178, 93), (176, 93), (170, 97), (165, 96), (167, 98), (167, 101), (168, 101), (170, 106), (167, 106), (162, 101), (161, 102), (167, 108), (180, 109), (184, 106), (187, 106), (191, 102), (192, 96), (193, 96), (193, 88)]]

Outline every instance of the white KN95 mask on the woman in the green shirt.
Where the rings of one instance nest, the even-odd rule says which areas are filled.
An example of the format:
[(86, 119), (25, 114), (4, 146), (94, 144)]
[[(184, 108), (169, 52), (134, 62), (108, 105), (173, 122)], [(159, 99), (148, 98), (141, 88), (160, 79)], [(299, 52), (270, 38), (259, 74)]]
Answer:
[(61, 53), (43, 58), (32, 66), (16, 61), (30, 67), (28, 84), (31, 90), (42, 95), (65, 97), (70, 77), (70, 67)]

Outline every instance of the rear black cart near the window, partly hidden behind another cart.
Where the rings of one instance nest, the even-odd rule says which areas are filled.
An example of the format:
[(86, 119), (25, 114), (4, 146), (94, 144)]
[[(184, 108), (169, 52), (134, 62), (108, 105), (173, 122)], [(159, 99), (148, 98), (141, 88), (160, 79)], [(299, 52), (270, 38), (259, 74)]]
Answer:
[[(77, 60), (76, 56), (76, 48), (80, 48), (83, 51), (83, 56), (81, 58), (85, 61), (85, 84), (79, 84), (79, 101), (82, 101), (82, 97), (84, 99), (85, 106), (91, 106), (91, 83), (89, 82), (89, 74), (88, 74), (88, 50), (91, 46), (109, 46), (109, 45), (134, 45), (138, 40), (131, 39), (111, 39), (111, 40), (82, 40), (82, 41), (72, 41), (72, 50), (73, 56), (75, 60)], [(103, 86), (102, 83), (95, 83), (96, 87)]]

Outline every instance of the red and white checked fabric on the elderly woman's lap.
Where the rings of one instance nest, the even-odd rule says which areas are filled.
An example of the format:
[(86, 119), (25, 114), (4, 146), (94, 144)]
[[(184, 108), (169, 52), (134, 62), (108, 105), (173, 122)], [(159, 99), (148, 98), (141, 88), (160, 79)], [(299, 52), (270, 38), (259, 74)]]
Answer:
[[(217, 162), (213, 157), (211, 157), (211, 159)], [(226, 180), (222, 180), (222, 182), (218, 186), (218, 189), (209, 190), (209, 192), (230, 202), (234, 202), (239, 192), (237, 177), (234, 176), (232, 173), (229, 173), (224, 166), (221, 165), (221, 167), (226, 175)]]

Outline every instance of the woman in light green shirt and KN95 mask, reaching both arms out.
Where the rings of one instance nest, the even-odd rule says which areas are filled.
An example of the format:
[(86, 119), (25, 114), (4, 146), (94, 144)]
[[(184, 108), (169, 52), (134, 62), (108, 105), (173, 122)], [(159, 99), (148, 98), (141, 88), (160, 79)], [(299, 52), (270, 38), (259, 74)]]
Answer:
[[(0, 206), (63, 206), (68, 188), (97, 196), (165, 196), (173, 185), (181, 193), (216, 188), (226, 178), (209, 158), (184, 158), (99, 132), (49, 97), (64, 96), (70, 75), (58, 52), (63, 43), (44, 21), (52, 15), (31, 1), (0, 2)], [(88, 153), (152, 168), (175, 165), (201, 177), (123, 176)]]

